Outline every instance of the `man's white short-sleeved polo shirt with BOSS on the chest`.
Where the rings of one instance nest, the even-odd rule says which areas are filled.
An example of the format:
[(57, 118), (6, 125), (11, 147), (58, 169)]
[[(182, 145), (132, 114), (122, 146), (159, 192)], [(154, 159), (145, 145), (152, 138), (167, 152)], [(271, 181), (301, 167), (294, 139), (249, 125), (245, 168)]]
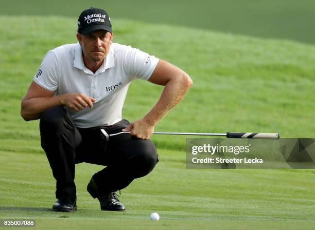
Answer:
[(83, 93), (96, 99), (92, 108), (79, 112), (65, 107), (77, 127), (112, 125), (121, 120), (130, 82), (148, 80), (158, 62), (143, 51), (113, 43), (106, 60), (93, 73), (84, 66), (79, 43), (67, 44), (47, 52), (33, 81), (55, 95)]

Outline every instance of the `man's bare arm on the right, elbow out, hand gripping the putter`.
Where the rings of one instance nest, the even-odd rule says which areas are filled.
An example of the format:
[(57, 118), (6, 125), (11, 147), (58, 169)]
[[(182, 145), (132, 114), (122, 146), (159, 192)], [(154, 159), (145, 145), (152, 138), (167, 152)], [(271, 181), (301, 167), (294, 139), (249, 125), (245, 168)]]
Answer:
[(190, 86), (193, 85), (187, 73), (163, 60), (156, 65), (149, 82), (165, 86), (159, 101), (143, 119), (132, 122), (122, 130), (131, 131), (132, 136), (145, 140), (152, 135), (154, 125), (184, 98)]

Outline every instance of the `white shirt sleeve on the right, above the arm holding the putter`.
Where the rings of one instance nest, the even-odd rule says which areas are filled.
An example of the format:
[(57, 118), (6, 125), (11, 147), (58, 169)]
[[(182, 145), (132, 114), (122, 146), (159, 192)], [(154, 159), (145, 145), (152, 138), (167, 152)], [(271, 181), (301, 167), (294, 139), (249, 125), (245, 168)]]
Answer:
[(124, 61), (132, 79), (148, 80), (158, 65), (159, 59), (139, 49), (126, 46)]

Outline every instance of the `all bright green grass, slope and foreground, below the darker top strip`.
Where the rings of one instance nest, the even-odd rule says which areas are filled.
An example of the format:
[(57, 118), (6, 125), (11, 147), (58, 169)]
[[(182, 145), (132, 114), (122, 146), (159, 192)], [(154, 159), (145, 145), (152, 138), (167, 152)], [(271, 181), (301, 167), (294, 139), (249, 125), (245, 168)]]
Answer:
[[(47, 50), (75, 40), (75, 18), (0, 17), (0, 218), (33, 218), (39, 228), (312, 229), (313, 170), (185, 168), (184, 137), (152, 137), (160, 163), (122, 191), (126, 213), (99, 210), (85, 190), (101, 167), (76, 168), (79, 210), (50, 212), (55, 181), (40, 148), (38, 121), (20, 117), (21, 98)], [(5, 26), (4, 26), (5, 25)], [(117, 21), (114, 42), (183, 68), (194, 80), (156, 131), (278, 131), (313, 138), (315, 47), (183, 27)], [(141, 118), (162, 87), (131, 84), (124, 118)], [(150, 222), (151, 212), (161, 220)]]

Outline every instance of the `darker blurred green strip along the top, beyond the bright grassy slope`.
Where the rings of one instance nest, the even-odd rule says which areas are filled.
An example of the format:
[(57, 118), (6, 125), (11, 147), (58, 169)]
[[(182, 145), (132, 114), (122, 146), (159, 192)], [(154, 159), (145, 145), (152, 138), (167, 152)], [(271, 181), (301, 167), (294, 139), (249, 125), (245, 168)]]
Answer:
[[(0, 15), (61, 15), (78, 17), (83, 9), (106, 9), (117, 19), (165, 23), (190, 28), (274, 37), (315, 43), (315, 2), (312, 0), (2, 0)], [(74, 23), (73, 25), (76, 25)], [(114, 30), (115, 31), (115, 30)]]

